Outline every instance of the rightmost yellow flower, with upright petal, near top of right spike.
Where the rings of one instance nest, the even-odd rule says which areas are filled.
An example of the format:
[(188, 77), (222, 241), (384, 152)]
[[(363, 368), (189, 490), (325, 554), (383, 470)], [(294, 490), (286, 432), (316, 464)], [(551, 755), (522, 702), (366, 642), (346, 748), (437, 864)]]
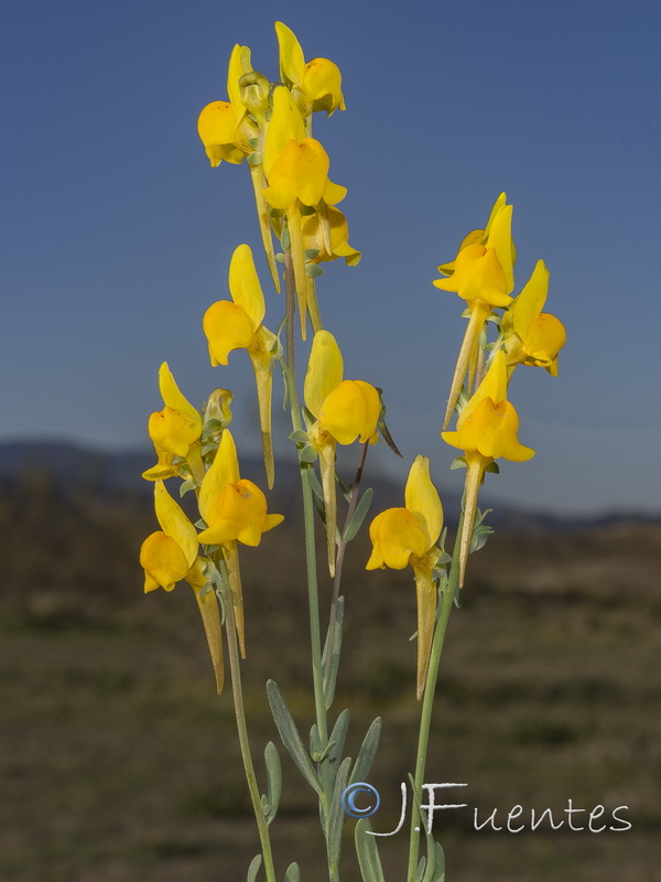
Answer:
[(516, 365), (544, 367), (557, 376), (557, 353), (565, 344), (566, 331), (560, 319), (542, 312), (549, 293), (549, 270), (538, 260), (530, 280), (502, 316), (502, 333), (509, 373)]

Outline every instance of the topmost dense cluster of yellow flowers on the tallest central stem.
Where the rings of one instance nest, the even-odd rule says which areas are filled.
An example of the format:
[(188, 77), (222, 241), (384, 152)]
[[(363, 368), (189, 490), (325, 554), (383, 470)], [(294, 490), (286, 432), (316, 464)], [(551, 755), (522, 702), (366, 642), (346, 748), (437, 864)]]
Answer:
[(247, 46), (236, 45), (227, 74), (228, 101), (212, 101), (199, 115), (198, 132), (213, 166), (223, 160), (250, 168), (262, 243), (275, 289), (280, 290), (272, 232), (291, 248), (301, 333), (307, 316), (322, 322), (316, 301), (318, 263), (344, 257), (355, 266), (360, 252), (349, 245), (348, 225), (335, 207), (347, 190), (328, 178), (329, 159), (312, 137), (312, 116), (345, 109), (342, 75), (328, 58), (305, 63), (294, 33), (275, 23), (280, 77), (269, 82), (252, 68)]

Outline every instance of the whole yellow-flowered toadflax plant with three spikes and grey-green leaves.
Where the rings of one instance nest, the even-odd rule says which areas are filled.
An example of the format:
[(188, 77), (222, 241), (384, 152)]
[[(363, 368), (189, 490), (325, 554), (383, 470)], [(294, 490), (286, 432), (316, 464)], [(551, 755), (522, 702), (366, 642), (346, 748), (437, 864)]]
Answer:
[[(305, 62), (286, 25), (277, 22), (275, 32), (280, 49), (278, 78), (269, 80), (256, 71), (250, 50), (236, 45), (229, 60), (228, 99), (214, 100), (202, 110), (198, 131), (213, 168), (224, 162), (248, 166), (259, 239), (273, 288), (275, 292), (284, 291), (284, 314), (279, 311), (282, 299), (264, 297), (250, 246), (239, 244), (229, 265), (229, 299), (226, 295), (209, 304), (203, 330), (212, 365), (220, 367), (220, 375), (230, 353), (248, 353), (257, 385), (269, 490), (275, 481), (273, 375), (282, 377), (305, 527), (306, 585), (302, 584), (301, 591), (307, 595), (310, 611), (315, 706), (307, 742), (301, 731), (310, 721), (294, 720), (274, 680), (269, 680), (267, 691), (282, 745), (318, 803), (327, 868), (318, 868), (314, 880), (327, 873), (330, 882), (337, 882), (347, 819), (345, 796), (369, 775), (382, 725), (377, 718), (356, 759), (344, 756), (349, 713), (346, 709), (337, 712), (334, 704), (345, 605), (343, 563), (346, 547), (361, 529), (371, 503), (371, 490), (360, 490), (369, 447), (383, 441), (401, 454), (386, 427), (381, 390), (367, 380), (345, 378), (345, 357), (335, 336), (324, 327), (316, 291), (316, 280), (324, 275), (323, 263), (344, 258), (348, 266), (355, 266), (360, 259), (360, 252), (349, 245), (347, 220), (336, 207), (346, 196), (346, 187), (328, 176), (328, 154), (312, 136), (314, 114), (324, 111), (329, 117), (345, 109), (342, 76), (327, 58)], [(448, 617), (453, 606), (460, 605), (468, 556), (481, 548), (491, 533), (477, 505), (479, 488), (486, 473), (498, 472), (497, 460), (524, 462), (534, 455), (519, 441), (519, 418), (508, 398), (508, 387), (519, 365), (541, 366), (555, 375), (557, 353), (565, 342), (562, 323), (542, 312), (549, 286), (543, 261), (537, 263), (519, 295), (513, 295), (516, 251), (511, 225), (512, 206), (502, 193), (484, 229), (474, 229), (464, 237), (455, 259), (438, 267), (443, 278), (434, 281), (441, 290), (454, 292), (465, 301), (464, 316), (468, 320), (442, 427), (443, 440), (462, 453), (452, 467), (466, 469), (454, 549), (451, 553), (444, 548), (443, 507), (426, 456), (412, 458), (403, 506), (381, 512), (369, 527), (372, 551), (366, 569), (402, 570), (410, 566), (418, 600), (418, 673), (412, 689), (421, 701), (421, 714), (418, 752), (411, 757), (414, 799), (407, 882), (445, 879), (445, 858), (427, 824), (422, 786)], [(278, 332), (264, 324), (267, 313), (268, 324)], [(296, 338), (300, 334), (305, 340), (308, 333), (310, 358), (305, 369), (297, 370)], [(346, 368), (351, 376), (350, 359)], [(149, 536), (141, 549), (144, 590), (151, 592), (161, 587), (172, 591), (177, 582), (188, 582), (202, 615), (218, 693), (225, 678), (225, 635), (238, 739), (260, 842), (247, 879), (296, 882), (299, 865), (291, 863), (284, 872), (277, 869), (271, 848), (282, 789), (279, 752), (272, 742), (267, 744), (267, 779), (258, 783), (241, 686), (241, 659), (249, 670), (250, 658), (239, 549), (259, 546), (262, 535), (277, 528), (283, 518), (269, 510), (268, 499), (257, 484), (240, 476), (237, 443), (229, 429), (231, 392), (218, 388), (198, 409), (180, 390), (167, 364), (161, 366), (159, 385), (163, 408), (149, 418), (156, 463), (143, 477), (154, 485), (160, 530)], [(448, 428), (453, 418), (455, 426)], [(239, 442), (240, 450), (243, 439)], [(337, 444), (359, 445), (356, 477), (348, 488), (336, 472)], [(338, 518), (338, 485), (347, 502), (344, 518)], [(195, 524), (175, 501), (177, 490), (180, 496), (194, 493), (199, 513)], [(318, 564), (317, 518), (326, 537), (326, 560)], [(325, 576), (326, 570), (333, 585), (328, 609), (322, 611), (318, 577)], [(348, 805), (356, 808), (354, 802)], [(360, 810), (349, 814), (360, 815)], [(421, 830), (426, 838), (426, 854), (422, 858)], [(384, 871), (381, 865), (378, 840), (367, 818), (356, 825), (355, 838), (361, 879), (382, 882), (388, 868)]]

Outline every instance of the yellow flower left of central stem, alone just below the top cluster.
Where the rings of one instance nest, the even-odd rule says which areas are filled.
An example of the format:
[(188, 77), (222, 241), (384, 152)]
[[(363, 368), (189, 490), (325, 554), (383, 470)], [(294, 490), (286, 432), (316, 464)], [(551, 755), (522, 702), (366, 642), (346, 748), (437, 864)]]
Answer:
[(278, 341), (262, 324), (266, 313), (264, 298), (252, 251), (248, 245), (239, 245), (231, 257), (229, 291), (234, 302), (219, 300), (206, 311), (203, 320), (204, 333), (214, 366), (226, 365), (229, 353), (234, 349), (248, 351), (257, 381), (264, 467), (269, 487), (272, 487), (274, 474), (271, 443), (271, 389), (274, 362), (272, 351), (278, 346)]

